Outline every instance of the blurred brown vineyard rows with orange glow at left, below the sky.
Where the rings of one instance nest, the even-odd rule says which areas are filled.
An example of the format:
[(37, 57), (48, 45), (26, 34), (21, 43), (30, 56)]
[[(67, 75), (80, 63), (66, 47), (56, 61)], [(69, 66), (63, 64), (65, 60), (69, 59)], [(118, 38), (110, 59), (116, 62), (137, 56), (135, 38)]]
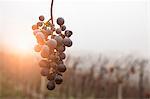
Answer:
[[(18, 57), (19, 56), (19, 57)], [(92, 56), (92, 55), (91, 55)], [(126, 55), (71, 56), (65, 60), (64, 82), (46, 89), (38, 61), (31, 54), (0, 52), (0, 99), (149, 99), (149, 60)]]

